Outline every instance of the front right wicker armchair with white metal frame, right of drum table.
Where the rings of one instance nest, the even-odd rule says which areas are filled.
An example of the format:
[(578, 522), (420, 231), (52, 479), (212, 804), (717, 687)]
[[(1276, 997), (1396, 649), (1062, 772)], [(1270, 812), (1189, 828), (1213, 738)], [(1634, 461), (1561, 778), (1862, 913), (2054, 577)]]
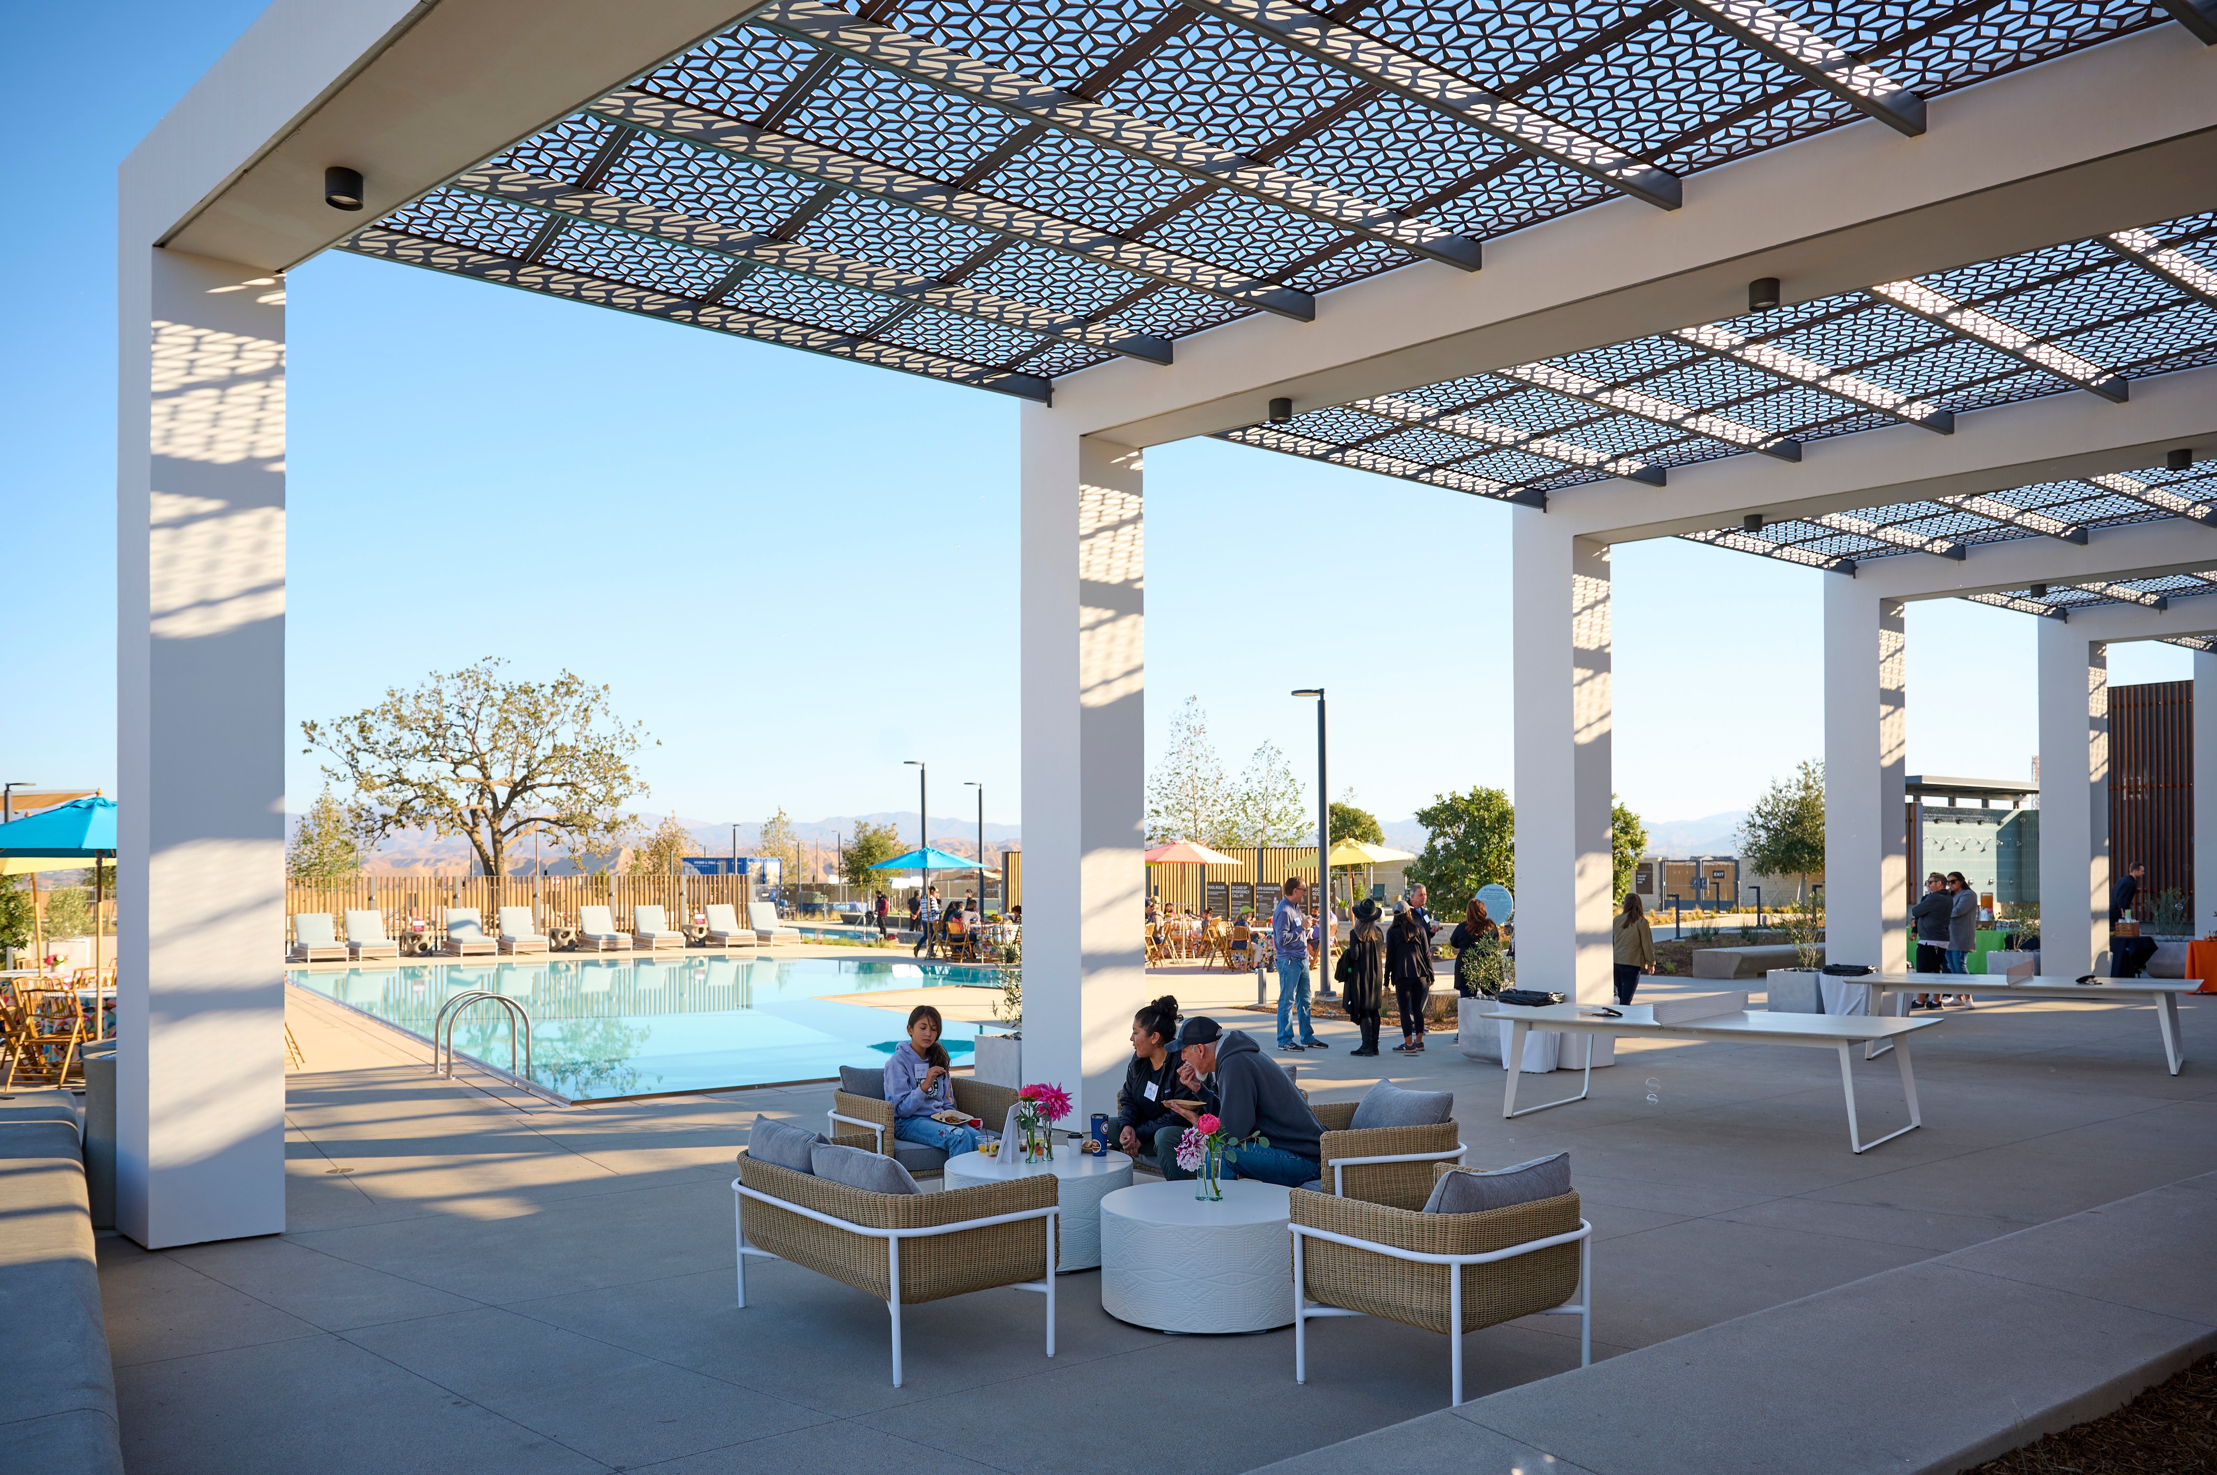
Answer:
[[(1463, 1402), (1465, 1331), (1576, 1315), (1579, 1366), (1594, 1362), (1594, 1227), (1579, 1218), (1576, 1193), (1483, 1213), (1419, 1213), (1308, 1189), (1290, 1202), (1295, 1382), (1308, 1382), (1308, 1322), (1321, 1315), (1445, 1333), (1454, 1404)], [(1572, 1293), (1576, 1304), (1567, 1304)]]

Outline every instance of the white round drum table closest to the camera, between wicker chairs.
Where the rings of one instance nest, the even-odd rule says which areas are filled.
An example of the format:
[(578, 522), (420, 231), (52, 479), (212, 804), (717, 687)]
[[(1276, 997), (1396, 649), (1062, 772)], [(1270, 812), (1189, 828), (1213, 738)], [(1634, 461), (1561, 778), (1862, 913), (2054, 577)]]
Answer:
[(1290, 1326), (1290, 1191), (1237, 1178), (1202, 1202), (1193, 1189), (1142, 1182), (1102, 1200), (1102, 1311), (1155, 1331)]

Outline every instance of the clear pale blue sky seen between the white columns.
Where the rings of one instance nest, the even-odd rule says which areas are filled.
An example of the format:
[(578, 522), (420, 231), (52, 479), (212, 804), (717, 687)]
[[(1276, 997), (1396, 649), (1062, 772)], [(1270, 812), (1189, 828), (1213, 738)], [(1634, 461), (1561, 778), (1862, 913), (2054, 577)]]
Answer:
[[(16, 721), (4, 779), (113, 785), (113, 169), (257, 4), (13, 7), (29, 120), (0, 237)], [(100, 106), (84, 64), (100, 58)], [(27, 286), (29, 284), (29, 286)], [(614, 688), (654, 812), (754, 821), (987, 785), (1015, 823), (1015, 404), (814, 355), (328, 255), (288, 284), (288, 712), (337, 716), (483, 654)], [(1454, 492), (1222, 441), (1148, 452), (1151, 750), (1188, 694), (1386, 818), (1512, 787), (1508, 519)], [(1616, 550), (1616, 787), (1649, 818), (1747, 805), (1822, 743), (1809, 570)], [(1279, 634), (1330, 586), (1326, 628)], [(2035, 621), (1909, 617), (1911, 772), (2022, 776)], [(2113, 652), (2113, 681), (2188, 674)], [(2022, 712), (2011, 719), (2011, 712)], [(315, 792), (295, 754), (290, 805)]]

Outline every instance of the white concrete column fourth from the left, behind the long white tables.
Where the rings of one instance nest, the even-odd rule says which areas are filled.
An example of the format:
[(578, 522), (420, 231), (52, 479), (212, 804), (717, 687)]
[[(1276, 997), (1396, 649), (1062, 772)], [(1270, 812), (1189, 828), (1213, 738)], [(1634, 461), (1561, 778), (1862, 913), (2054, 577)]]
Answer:
[(1825, 581), (1825, 960), (1909, 967), (1907, 621)]

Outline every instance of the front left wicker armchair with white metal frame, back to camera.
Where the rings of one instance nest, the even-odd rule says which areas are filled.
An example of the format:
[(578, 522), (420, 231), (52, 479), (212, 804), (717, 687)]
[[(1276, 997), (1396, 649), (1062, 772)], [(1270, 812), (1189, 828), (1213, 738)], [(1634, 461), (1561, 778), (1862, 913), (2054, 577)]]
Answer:
[(1049, 1173), (944, 1193), (871, 1193), (738, 1153), (732, 1213), (738, 1227), (738, 1304), (747, 1255), (787, 1260), (876, 1295), (893, 1313), (893, 1386), (900, 1386), (900, 1309), (971, 1291), (1046, 1293), (1046, 1355), (1055, 1355), (1058, 1184)]

